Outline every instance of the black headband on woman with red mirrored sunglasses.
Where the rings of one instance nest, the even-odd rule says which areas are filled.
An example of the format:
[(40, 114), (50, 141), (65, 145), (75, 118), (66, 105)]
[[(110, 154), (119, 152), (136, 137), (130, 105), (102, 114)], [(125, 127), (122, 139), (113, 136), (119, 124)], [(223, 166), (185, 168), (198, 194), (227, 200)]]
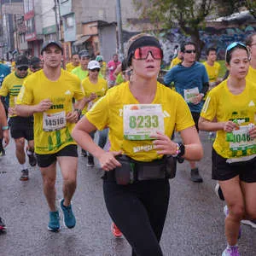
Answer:
[[(131, 66), (131, 58), (134, 54), (135, 50), (137, 48), (143, 47), (143, 46), (155, 46), (159, 49), (161, 49), (159, 41), (151, 36), (144, 36), (142, 38), (138, 38), (134, 42), (131, 43), (128, 51), (127, 51), (127, 65), (128, 67)], [(161, 49), (162, 51), (162, 49)]]

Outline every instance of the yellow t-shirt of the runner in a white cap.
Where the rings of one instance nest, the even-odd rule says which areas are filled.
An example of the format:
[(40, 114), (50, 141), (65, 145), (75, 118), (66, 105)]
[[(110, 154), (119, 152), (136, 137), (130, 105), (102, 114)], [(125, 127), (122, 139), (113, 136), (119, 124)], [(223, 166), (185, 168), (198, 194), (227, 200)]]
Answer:
[(84, 95), (85, 97), (89, 97), (91, 93), (96, 93), (97, 98), (93, 101), (86, 103), (84, 106), (84, 109), (82, 111), (83, 114), (85, 114), (90, 108), (93, 106), (93, 104), (98, 101), (102, 96), (104, 96), (108, 90), (108, 82), (105, 79), (98, 78), (97, 84), (92, 84), (90, 82), (89, 77), (84, 79), (82, 81), (82, 86), (84, 89)]

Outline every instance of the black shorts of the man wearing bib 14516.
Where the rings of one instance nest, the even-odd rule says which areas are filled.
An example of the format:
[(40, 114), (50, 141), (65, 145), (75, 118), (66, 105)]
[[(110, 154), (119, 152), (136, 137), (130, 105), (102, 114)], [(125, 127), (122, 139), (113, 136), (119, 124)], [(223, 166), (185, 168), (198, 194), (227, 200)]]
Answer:
[(77, 145), (67, 145), (65, 148), (62, 148), (60, 151), (54, 154), (36, 154), (39, 167), (48, 167), (51, 164), (55, 163), (58, 156), (73, 156), (78, 157), (78, 146)]

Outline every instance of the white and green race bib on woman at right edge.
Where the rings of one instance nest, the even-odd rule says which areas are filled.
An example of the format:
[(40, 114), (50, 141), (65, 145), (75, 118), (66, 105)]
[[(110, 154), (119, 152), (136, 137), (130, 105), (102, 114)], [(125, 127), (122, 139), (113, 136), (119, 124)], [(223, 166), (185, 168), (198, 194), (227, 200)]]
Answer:
[(256, 148), (256, 141), (249, 135), (249, 130), (252, 128), (251, 125), (242, 125), (239, 130), (235, 130), (227, 133), (226, 140), (230, 142), (230, 150), (247, 150)]

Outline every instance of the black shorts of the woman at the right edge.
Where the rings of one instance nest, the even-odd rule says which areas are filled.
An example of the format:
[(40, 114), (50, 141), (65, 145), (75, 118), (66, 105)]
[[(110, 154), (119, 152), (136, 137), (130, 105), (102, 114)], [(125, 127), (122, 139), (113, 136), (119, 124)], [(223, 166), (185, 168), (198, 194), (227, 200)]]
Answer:
[(239, 175), (241, 181), (245, 183), (256, 182), (256, 157), (231, 164), (226, 160), (212, 148), (212, 179), (224, 181)]

